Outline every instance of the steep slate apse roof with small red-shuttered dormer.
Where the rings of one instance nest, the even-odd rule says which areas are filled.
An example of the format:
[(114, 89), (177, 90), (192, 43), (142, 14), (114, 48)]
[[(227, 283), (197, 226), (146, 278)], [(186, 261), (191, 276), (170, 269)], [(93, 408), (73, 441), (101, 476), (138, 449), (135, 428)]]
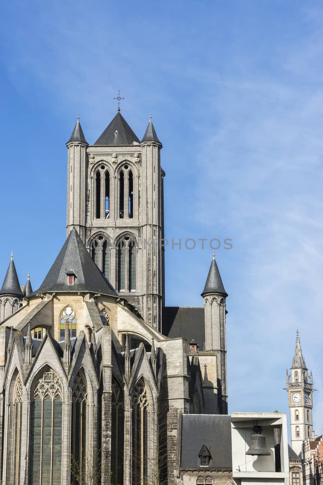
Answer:
[[(67, 284), (66, 272), (71, 268), (76, 274), (74, 285)], [(40, 288), (32, 295), (48, 291), (91, 291), (119, 296), (92, 260), (75, 228), (70, 232)]]

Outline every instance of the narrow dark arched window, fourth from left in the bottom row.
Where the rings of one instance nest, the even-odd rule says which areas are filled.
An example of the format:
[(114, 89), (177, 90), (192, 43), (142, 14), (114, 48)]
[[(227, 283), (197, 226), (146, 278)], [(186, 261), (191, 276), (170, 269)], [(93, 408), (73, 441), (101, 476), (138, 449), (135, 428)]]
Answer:
[(123, 485), (123, 391), (112, 377), (111, 403), (111, 485)]

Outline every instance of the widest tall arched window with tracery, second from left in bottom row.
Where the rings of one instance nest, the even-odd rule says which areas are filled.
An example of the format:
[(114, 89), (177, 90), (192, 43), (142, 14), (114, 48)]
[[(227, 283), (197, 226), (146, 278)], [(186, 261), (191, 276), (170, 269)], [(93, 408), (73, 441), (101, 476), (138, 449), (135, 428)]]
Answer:
[(60, 379), (47, 367), (31, 406), (31, 485), (61, 485), (62, 401)]

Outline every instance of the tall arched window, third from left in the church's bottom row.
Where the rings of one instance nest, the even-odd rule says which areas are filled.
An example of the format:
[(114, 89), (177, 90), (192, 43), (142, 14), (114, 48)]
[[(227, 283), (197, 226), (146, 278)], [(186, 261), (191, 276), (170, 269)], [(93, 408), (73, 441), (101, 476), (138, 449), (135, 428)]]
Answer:
[[(71, 469), (77, 469), (77, 475), (82, 476), (86, 465), (86, 406), (88, 404), (88, 389), (85, 377), (78, 372), (72, 388), (71, 414)], [(71, 473), (71, 484), (78, 484), (75, 473)]]

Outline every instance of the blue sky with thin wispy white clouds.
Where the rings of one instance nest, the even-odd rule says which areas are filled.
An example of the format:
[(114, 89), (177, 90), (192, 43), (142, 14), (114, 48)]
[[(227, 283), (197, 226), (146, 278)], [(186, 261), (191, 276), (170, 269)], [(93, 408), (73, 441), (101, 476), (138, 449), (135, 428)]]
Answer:
[[(0, 29), (0, 278), (38, 287), (65, 238), (65, 143), (116, 113), (163, 143), (165, 234), (231, 238), (229, 411), (288, 412), (296, 329), (323, 433), (320, 1), (22, 2)], [(166, 251), (168, 305), (200, 306), (210, 249)], [(2, 276), (1, 276), (2, 275)]]

